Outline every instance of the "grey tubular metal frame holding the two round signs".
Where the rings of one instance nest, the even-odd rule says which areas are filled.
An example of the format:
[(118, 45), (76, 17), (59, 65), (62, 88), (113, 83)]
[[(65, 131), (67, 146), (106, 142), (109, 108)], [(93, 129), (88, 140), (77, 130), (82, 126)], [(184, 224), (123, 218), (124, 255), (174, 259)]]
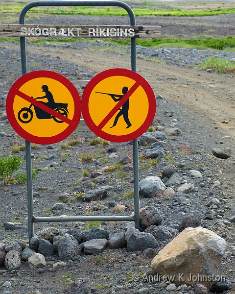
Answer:
[[(130, 18), (130, 25), (136, 25), (135, 15), (129, 5), (115, 0), (40, 0), (33, 1), (24, 6), (20, 14), (20, 25), (24, 25), (27, 11), (38, 6), (118, 6), (125, 9)], [(26, 42), (20, 37), (22, 75), (27, 73)], [(131, 38), (131, 70), (136, 72), (136, 39)], [(25, 140), (26, 148), (26, 174), (27, 174), (27, 202), (28, 202), (28, 238), (34, 236), (34, 222), (51, 221), (135, 221), (135, 227), (140, 229), (140, 197), (139, 197), (139, 155), (138, 139), (133, 141), (133, 176), (134, 176), (134, 216), (76, 216), (76, 217), (35, 217), (33, 215), (33, 185), (31, 143)]]

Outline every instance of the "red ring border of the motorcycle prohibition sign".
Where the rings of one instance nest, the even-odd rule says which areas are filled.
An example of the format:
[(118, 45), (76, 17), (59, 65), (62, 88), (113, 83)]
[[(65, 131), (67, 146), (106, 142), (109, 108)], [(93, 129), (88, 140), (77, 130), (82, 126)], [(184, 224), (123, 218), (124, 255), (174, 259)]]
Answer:
[[(38, 78), (38, 77), (48, 77), (48, 78), (52, 78), (59, 81), (60, 83), (66, 86), (66, 88), (71, 93), (71, 96), (74, 101), (74, 115), (72, 118), (72, 123), (63, 132), (52, 137), (38, 137), (32, 134), (29, 134), (27, 131), (24, 130), (24, 128), (22, 128), (22, 126), (19, 125), (14, 114), (13, 102), (16, 96), (16, 94), (14, 94), (14, 91), (19, 90), (21, 86), (27, 81), (34, 78)], [(11, 86), (6, 98), (6, 113), (7, 113), (8, 121), (10, 122), (11, 126), (22, 138), (35, 144), (42, 144), (42, 145), (54, 144), (69, 137), (71, 133), (75, 130), (75, 128), (77, 127), (80, 121), (81, 109), (82, 109), (81, 98), (76, 88), (71, 83), (71, 81), (68, 80), (65, 76), (63, 76), (60, 73), (55, 73), (55, 72), (46, 71), (46, 70), (34, 71), (34, 72), (30, 72), (30, 73), (26, 73), (22, 75)]]

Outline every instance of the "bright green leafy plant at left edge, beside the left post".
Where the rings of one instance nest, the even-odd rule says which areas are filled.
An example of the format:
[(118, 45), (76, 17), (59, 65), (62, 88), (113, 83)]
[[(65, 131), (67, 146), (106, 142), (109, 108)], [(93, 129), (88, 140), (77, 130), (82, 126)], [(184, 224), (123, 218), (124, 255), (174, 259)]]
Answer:
[(12, 175), (23, 163), (22, 157), (0, 157), (0, 177), (3, 178), (3, 185), (7, 185), (12, 179)]

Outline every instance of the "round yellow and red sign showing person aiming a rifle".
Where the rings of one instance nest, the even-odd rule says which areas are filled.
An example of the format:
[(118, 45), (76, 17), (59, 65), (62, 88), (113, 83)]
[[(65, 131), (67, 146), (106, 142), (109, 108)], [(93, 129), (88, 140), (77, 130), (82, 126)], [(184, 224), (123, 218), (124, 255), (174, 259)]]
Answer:
[(82, 114), (100, 138), (127, 142), (140, 137), (151, 125), (156, 99), (148, 82), (127, 69), (98, 73), (82, 96)]

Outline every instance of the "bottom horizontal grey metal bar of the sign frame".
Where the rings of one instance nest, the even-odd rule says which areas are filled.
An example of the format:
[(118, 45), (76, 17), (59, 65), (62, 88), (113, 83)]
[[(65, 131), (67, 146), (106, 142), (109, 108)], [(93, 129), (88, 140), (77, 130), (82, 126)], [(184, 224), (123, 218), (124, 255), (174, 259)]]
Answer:
[(134, 221), (131, 216), (83, 216), (83, 217), (32, 217), (32, 222), (53, 222), (53, 221)]

